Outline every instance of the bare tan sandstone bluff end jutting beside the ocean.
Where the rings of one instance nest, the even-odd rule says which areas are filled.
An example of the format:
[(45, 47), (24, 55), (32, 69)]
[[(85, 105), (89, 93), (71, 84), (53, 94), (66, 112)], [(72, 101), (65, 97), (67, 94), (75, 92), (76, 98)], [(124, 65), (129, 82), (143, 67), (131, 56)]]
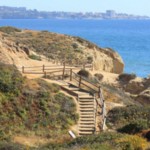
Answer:
[(93, 57), (94, 70), (121, 74), (124, 70), (124, 62), (121, 56), (111, 48), (101, 48), (89, 41), (82, 44), (78, 42), (80, 49)]

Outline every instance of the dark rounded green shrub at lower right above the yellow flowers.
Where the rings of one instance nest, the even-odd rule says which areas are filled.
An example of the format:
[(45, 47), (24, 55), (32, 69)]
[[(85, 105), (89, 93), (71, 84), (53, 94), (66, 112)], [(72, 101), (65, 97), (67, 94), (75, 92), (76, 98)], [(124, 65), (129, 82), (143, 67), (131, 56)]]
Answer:
[(148, 129), (148, 123), (146, 120), (135, 120), (119, 128), (118, 132), (136, 134), (145, 129)]

